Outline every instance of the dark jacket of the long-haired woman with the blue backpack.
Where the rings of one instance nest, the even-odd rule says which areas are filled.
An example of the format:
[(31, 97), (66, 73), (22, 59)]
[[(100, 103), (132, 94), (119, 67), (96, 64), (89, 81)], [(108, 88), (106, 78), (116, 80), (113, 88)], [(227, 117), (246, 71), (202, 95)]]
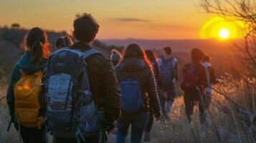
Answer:
[(119, 82), (128, 76), (136, 76), (141, 83), (141, 93), (143, 93), (145, 99), (144, 107), (146, 111), (148, 111), (148, 99), (150, 99), (152, 102), (153, 113), (156, 117), (160, 117), (161, 107), (153, 69), (141, 59), (129, 58), (118, 64), (118, 66), (115, 66), (115, 72)]

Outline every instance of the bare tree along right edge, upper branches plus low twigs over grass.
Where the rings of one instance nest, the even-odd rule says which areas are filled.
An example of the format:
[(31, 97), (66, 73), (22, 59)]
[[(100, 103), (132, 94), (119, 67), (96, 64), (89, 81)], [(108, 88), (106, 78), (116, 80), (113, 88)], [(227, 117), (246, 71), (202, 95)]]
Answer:
[[(256, 69), (256, 0), (201, 0), (202, 8), (204, 11), (210, 14), (217, 14), (219, 16), (224, 17), (225, 19), (235, 19), (238, 21), (242, 21), (245, 24), (245, 27), (242, 30), (245, 32), (243, 44), (236, 44), (237, 48), (240, 51), (244, 51), (249, 57), (250, 61), (252, 61), (251, 65), (254, 70), (250, 72), (250, 75), (255, 75)], [(248, 63), (248, 62), (247, 62)], [(250, 70), (250, 69), (249, 69)], [(252, 73), (252, 74), (251, 74)], [(245, 81), (248, 85), (250, 81), (248, 78), (245, 78)], [(215, 90), (218, 92), (217, 90)], [(224, 95), (224, 94), (222, 94)], [(243, 97), (244, 100), (253, 99), (255, 97), (250, 96), (248, 94), (246, 97)], [(256, 114), (253, 112), (253, 109), (250, 110), (247, 108), (247, 104), (245, 107), (234, 102), (228, 96), (225, 97), (227, 101), (232, 102), (234, 105), (233, 110), (237, 111), (243, 115), (245, 115), (245, 119), (242, 119), (242, 122), (248, 122), (247, 129), (250, 133), (255, 134), (256, 132)], [(251, 101), (251, 100), (250, 100)], [(245, 103), (245, 102), (244, 102)], [(252, 102), (254, 104), (254, 102)], [(254, 133), (253, 133), (254, 132)], [(252, 135), (252, 142), (255, 142), (254, 135)]]

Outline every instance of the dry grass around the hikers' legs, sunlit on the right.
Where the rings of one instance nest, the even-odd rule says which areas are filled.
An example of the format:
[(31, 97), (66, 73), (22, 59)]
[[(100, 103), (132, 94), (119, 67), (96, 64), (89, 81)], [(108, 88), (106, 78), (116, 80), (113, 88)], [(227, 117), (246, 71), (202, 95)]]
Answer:
[[(151, 132), (151, 142), (255, 142), (255, 83), (255, 79), (234, 80), (227, 74), (221, 83), (214, 87), (217, 91), (212, 97), (208, 125), (205, 129), (200, 127), (197, 108), (191, 125), (188, 124), (184, 116), (183, 97), (177, 97), (171, 108), (171, 122), (155, 122)], [(6, 84), (1, 79), (1, 97), (4, 97), (5, 93)], [(1, 98), (0, 121), (0, 142), (19, 142), (18, 132), (14, 131), (13, 127), (10, 132), (6, 132), (9, 115), (4, 98)], [(109, 134), (108, 142), (114, 141), (115, 135)]]

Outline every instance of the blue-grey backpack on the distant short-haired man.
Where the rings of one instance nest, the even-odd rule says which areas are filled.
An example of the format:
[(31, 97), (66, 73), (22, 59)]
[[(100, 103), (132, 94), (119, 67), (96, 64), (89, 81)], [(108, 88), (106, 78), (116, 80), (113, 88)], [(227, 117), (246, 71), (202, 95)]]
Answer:
[(164, 85), (172, 84), (172, 80), (175, 78), (175, 74), (176, 74), (175, 64), (176, 64), (176, 59), (174, 58), (161, 60), (160, 69), (161, 69)]

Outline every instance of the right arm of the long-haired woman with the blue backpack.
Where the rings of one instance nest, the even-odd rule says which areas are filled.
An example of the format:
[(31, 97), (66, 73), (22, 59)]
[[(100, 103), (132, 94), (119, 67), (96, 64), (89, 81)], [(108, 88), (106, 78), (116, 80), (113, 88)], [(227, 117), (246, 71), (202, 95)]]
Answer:
[(147, 92), (148, 97), (150, 98), (152, 104), (153, 104), (153, 112), (155, 114), (155, 117), (161, 117), (161, 105), (160, 100), (158, 96), (158, 89), (156, 87), (156, 79), (153, 74), (153, 69), (151, 69), (148, 82), (147, 82)]

